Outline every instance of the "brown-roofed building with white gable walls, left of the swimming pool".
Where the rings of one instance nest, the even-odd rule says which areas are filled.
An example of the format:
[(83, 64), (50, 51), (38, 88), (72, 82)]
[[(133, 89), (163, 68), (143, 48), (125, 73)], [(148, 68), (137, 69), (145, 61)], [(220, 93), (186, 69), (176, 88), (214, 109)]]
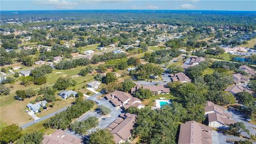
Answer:
[(131, 94), (121, 91), (114, 91), (105, 95), (105, 99), (108, 100), (115, 107), (123, 107), (124, 109), (129, 107), (143, 108), (141, 100), (132, 97)]

